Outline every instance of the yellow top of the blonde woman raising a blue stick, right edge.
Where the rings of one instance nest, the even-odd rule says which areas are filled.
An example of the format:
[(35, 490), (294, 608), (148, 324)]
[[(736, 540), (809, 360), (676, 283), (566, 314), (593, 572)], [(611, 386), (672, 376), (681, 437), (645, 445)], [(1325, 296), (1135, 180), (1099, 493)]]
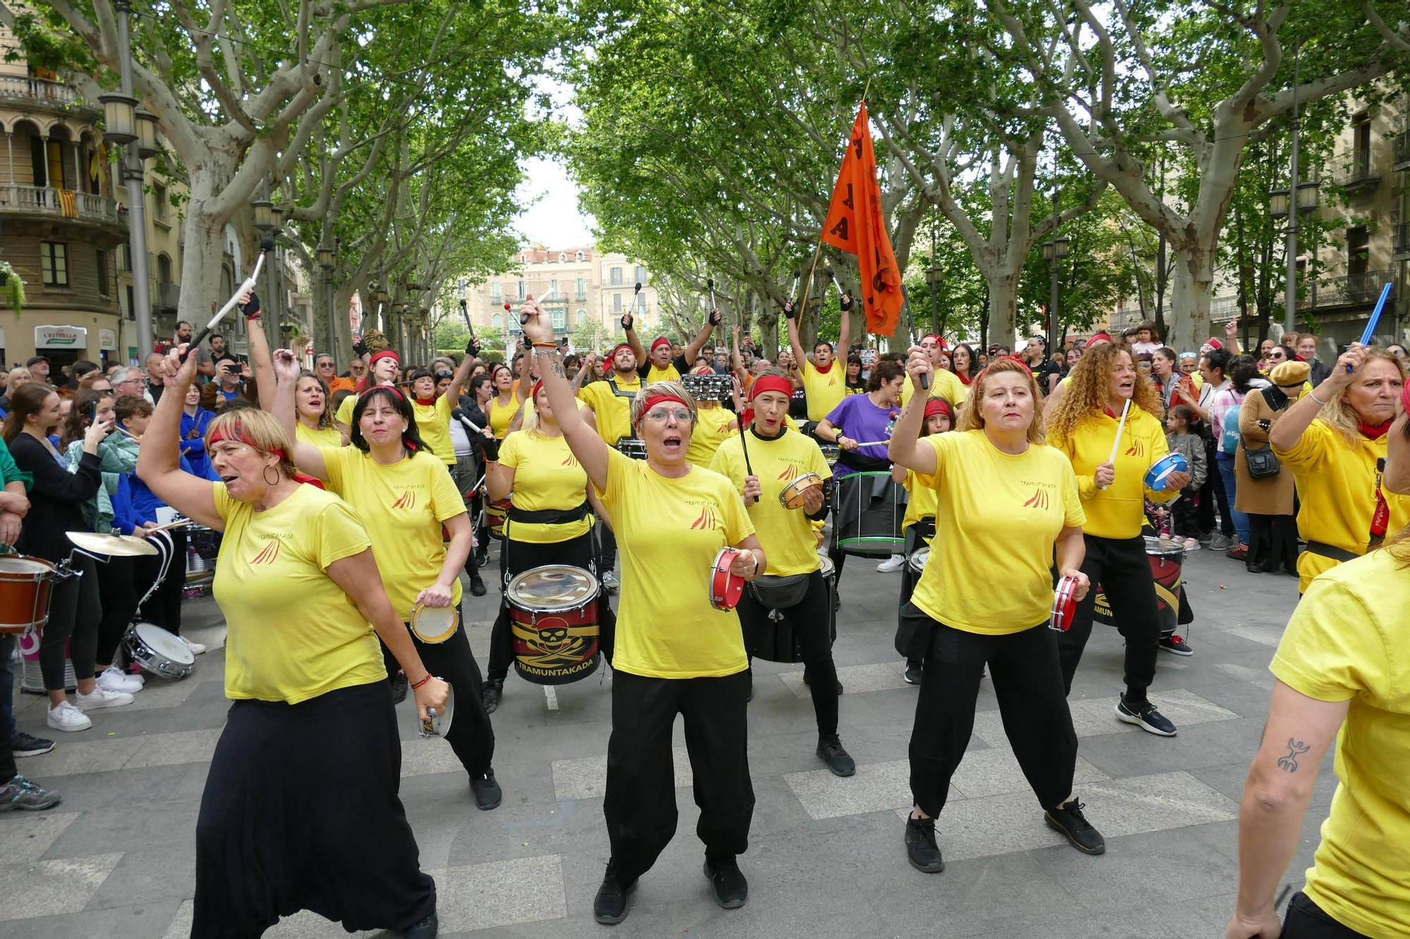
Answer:
[[(1355, 448), (1321, 417), (1313, 420), (1290, 450), (1273, 453), (1293, 471), (1297, 495), (1297, 533), (1304, 541), (1321, 541), (1352, 554), (1365, 554), (1371, 541), (1371, 516), (1376, 510), (1376, 461), (1386, 455), (1386, 438), (1358, 438)], [(1387, 537), (1410, 524), (1410, 499), (1385, 492), (1390, 509)], [(1313, 578), (1340, 561), (1311, 551), (1297, 557), (1297, 589), (1307, 592)]]

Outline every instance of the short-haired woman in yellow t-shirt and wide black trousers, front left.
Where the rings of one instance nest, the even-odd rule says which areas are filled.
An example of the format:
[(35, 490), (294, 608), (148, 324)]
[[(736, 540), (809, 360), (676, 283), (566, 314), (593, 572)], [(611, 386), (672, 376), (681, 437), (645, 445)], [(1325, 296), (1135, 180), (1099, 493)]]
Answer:
[(392, 610), (358, 516), (295, 479), (295, 444), (274, 417), (245, 409), (210, 422), (206, 451), (221, 482), (179, 468), (196, 357), (178, 361), (172, 352), (162, 364), (166, 391), (137, 472), (164, 502), (224, 532), (214, 596), (234, 701), (196, 822), (192, 935), (257, 935), (307, 908), (352, 929), (433, 935), (436, 887), (396, 795), (402, 743), (376, 637), (412, 680), (419, 716), (443, 712), (448, 689)]

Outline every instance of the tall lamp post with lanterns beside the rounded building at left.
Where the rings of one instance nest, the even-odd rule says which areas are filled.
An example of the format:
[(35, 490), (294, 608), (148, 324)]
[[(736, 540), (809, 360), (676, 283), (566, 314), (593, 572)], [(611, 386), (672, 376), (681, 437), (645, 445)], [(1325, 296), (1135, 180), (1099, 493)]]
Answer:
[[(154, 347), (152, 286), (147, 269), (147, 196), (142, 192), (141, 149), (144, 144), (151, 144), (155, 149), (157, 134), (145, 118), (138, 121), (137, 99), (133, 96), (133, 41), (127, 23), (133, 10), (131, 0), (114, 0), (113, 8), (117, 11), (118, 73), (123, 90), (120, 94), (103, 94), (99, 100), (103, 103), (107, 125), (103, 140), (123, 147), (118, 172), (123, 182), (127, 183), (127, 252), (133, 262), (133, 320), (137, 323), (137, 355), (141, 360), (147, 358)], [(155, 121), (154, 116), (149, 117)], [(145, 137), (144, 127), (151, 131), (149, 140)]]

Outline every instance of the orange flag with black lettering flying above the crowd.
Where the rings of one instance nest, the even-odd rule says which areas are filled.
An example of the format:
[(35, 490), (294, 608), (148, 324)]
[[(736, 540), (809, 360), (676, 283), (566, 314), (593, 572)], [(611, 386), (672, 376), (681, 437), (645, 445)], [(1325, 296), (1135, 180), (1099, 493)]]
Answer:
[(871, 149), (871, 127), (867, 124), (867, 104), (857, 109), (852, 124), (847, 154), (838, 171), (838, 185), (832, 190), (828, 220), (822, 224), (822, 240), (857, 255), (862, 272), (863, 310), (867, 333), (891, 336), (901, 316), (901, 269), (891, 251), (881, 210), (881, 186), (877, 183), (877, 155)]

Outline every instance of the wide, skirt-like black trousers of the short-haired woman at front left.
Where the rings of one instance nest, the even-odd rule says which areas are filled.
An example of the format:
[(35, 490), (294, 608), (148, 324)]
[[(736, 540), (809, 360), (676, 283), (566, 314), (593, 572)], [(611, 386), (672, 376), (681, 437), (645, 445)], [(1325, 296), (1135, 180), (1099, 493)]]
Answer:
[(296, 705), (235, 701), (200, 798), (190, 935), (259, 936), (300, 909), (348, 931), (430, 916), (436, 884), (398, 797), (400, 768), (385, 681)]

